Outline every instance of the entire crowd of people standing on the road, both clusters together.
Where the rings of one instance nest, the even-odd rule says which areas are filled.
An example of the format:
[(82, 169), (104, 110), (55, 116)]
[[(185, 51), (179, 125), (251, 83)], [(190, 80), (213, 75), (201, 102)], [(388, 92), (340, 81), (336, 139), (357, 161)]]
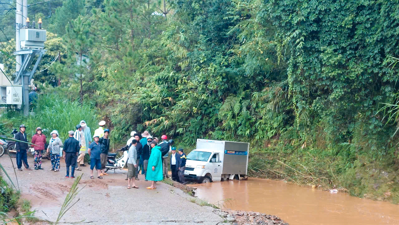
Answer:
[[(46, 136), (42, 133), (41, 127), (36, 128), (36, 133), (32, 137), (32, 145), (34, 148), (34, 169), (43, 169), (41, 167), (41, 159), (43, 151), (46, 151), (47, 157), (51, 159), (51, 171), (59, 171), (60, 154), (65, 158), (66, 175), (65, 177), (74, 178), (75, 170), (81, 171), (80, 167), (85, 167), (85, 159), (90, 164), (90, 178), (94, 179), (94, 167), (97, 170), (97, 178), (103, 179), (105, 173), (107, 157), (109, 152), (109, 129), (104, 129), (105, 121), (99, 122), (99, 128), (94, 131), (93, 139), (91, 137), (90, 127), (84, 120), (76, 125), (75, 131), (69, 131), (69, 137), (63, 143), (59, 138), (57, 130), (51, 131), (51, 139), (47, 149)], [(16, 142), (16, 161), (19, 171), (22, 171), (22, 163), (26, 170), (32, 170), (27, 160), (28, 139), (26, 136), (26, 126), (20, 125), (20, 131), (15, 135)], [(178, 149), (174, 145), (173, 140), (167, 140), (166, 135), (162, 135), (161, 141), (157, 137), (152, 137), (148, 131), (144, 131), (141, 135), (132, 131), (130, 139), (126, 142), (128, 145), (128, 189), (131, 187), (138, 188), (134, 181), (138, 179), (138, 173), (142, 172), (145, 181), (151, 181), (151, 185), (147, 189), (156, 189), (156, 181), (160, 181), (165, 177), (168, 178), (168, 162), (172, 171), (172, 180), (185, 183), (184, 169), (186, 166), (186, 154), (183, 149)], [(22, 141), (22, 142), (20, 142)], [(62, 150), (61, 150), (62, 148)], [(172, 152), (168, 160), (169, 153)], [(69, 173), (71, 167), (71, 173)]]

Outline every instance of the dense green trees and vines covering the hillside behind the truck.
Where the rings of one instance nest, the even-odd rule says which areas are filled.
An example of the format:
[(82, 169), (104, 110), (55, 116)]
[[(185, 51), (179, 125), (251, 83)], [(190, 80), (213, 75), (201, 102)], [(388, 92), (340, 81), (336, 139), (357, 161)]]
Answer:
[[(251, 175), (399, 203), (397, 0), (88, 0), (69, 12), (73, 2), (48, 24), (66, 58), (42, 98), (91, 106), (88, 124), (104, 118), (115, 142), (145, 129), (188, 148), (249, 141)], [(65, 132), (75, 115), (32, 121)]]

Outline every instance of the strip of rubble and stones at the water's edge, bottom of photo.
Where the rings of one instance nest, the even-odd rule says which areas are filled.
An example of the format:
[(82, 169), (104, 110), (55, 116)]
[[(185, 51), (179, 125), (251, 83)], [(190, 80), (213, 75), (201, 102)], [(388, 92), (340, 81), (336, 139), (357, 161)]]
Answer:
[(247, 211), (224, 211), (213, 209), (216, 215), (224, 218), (220, 225), (288, 225), (280, 217)]

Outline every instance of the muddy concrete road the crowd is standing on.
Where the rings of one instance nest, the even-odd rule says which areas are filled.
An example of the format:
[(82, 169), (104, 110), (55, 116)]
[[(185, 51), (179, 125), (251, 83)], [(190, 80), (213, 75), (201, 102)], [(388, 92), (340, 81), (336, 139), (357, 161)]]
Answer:
[[(14, 165), (16, 159), (12, 158)], [(16, 183), (12, 163), (8, 155), (0, 157), (0, 163)], [(28, 156), (33, 167), (33, 157)], [(55, 221), (61, 205), (74, 179), (65, 178), (65, 161), (61, 158), (59, 172), (50, 171), (51, 162), (43, 159), (44, 170), (18, 171), (18, 183), (21, 198), (32, 202), (32, 210), (38, 210), (36, 216)], [(83, 173), (79, 187), (85, 187), (78, 193), (79, 201), (61, 219), (61, 224), (70, 224), (84, 220), (92, 225), (216, 225), (223, 220), (209, 207), (201, 207), (188, 201), (192, 198), (180, 189), (158, 182), (157, 189), (148, 190), (150, 181), (144, 181), (139, 175), (136, 181), (139, 189), (127, 189), (126, 170), (109, 171), (104, 179), (90, 179), (89, 167), (75, 171), (75, 177)]]

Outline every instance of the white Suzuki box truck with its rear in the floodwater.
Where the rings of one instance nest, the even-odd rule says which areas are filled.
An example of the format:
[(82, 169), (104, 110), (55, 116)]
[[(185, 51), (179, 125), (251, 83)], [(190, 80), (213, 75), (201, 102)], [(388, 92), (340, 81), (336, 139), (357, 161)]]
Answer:
[(199, 183), (244, 179), (248, 170), (249, 143), (197, 139), (187, 155), (184, 177)]

